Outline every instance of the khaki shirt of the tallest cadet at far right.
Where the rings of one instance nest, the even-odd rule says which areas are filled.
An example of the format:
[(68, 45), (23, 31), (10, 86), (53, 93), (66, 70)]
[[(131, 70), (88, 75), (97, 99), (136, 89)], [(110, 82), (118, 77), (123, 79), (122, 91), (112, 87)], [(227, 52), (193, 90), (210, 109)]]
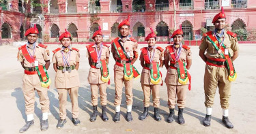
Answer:
[[(225, 37), (225, 38), (224, 38)], [(223, 44), (229, 49), (230, 56), (233, 56), (233, 52), (236, 52), (239, 50), (238, 47), (238, 39), (236, 37), (232, 37), (231, 35), (227, 34), (227, 31), (224, 32), (223, 37), (221, 37), (221, 40), (223, 40)], [(200, 50), (205, 51), (205, 56), (207, 58), (223, 58), (221, 57), (221, 54), (218, 54), (216, 48), (214, 48), (213, 44), (209, 41), (207, 37), (203, 37), (201, 45), (199, 46)]]

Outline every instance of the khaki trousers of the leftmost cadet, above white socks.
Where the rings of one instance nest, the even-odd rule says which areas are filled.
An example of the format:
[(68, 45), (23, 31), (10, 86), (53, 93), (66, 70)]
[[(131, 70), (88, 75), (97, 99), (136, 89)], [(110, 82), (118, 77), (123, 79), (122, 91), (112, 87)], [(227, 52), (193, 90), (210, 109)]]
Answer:
[(35, 108), (35, 90), (38, 93), (42, 112), (49, 111), (50, 101), (48, 98), (48, 88), (41, 86), (38, 74), (23, 76), (23, 95), (25, 99), (26, 114), (33, 114)]

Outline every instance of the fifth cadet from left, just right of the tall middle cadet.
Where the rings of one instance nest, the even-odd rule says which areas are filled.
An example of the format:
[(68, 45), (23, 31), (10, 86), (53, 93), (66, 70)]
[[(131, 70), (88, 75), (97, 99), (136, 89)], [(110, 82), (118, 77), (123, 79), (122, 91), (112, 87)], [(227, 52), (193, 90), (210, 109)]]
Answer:
[(139, 117), (140, 120), (145, 120), (148, 114), (148, 107), (150, 106), (150, 94), (152, 92), (153, 96), (153, 106), (154, 106), (154, 118), (157, 121), (161, 120), (160, 114), (158, 112), (158, 107), (160, 105), (159, 88), (162, 84), (162, 73), (160, 69), (164, 65), (164, 50), (158, 46), (156, 47), (156, 34), (153, 29), (150, 28), (152, 33), (147, 35), (145, 41), (147, 41), (148, 47), (141, 48), (141, 66), (143, 67), (141, 73), (141, 87), (144, 93), (144, 112)]

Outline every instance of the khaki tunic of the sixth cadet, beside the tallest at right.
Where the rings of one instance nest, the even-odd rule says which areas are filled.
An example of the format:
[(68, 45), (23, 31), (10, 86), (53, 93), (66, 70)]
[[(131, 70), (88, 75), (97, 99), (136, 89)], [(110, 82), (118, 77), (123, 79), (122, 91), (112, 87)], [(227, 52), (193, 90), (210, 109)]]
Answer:
[[(174, 47), (173, 48), (173, 52), (176, 54), (177, 53), (177, 48)], [(170, 54), (168, 49), (165, 50), (165, 60), (173, 62), (173, 59), (171, 58), (171, 54)], [(187, 60), (192, 60), (192, 53), (191, 53), (191, 51), (182, 48), (182, 50), (180, 52), (179, 60), (185, 61), (185, 63), (186, 63)], [(171, 84), (171, 85), (182, 85), (178, 81), (177, 69), (171, 69), (171, 67), (168, 68), (167, 76), (165, 78), (165, 83)], [(189, 82), (187, 82), (187, 84), (189, 84)]]

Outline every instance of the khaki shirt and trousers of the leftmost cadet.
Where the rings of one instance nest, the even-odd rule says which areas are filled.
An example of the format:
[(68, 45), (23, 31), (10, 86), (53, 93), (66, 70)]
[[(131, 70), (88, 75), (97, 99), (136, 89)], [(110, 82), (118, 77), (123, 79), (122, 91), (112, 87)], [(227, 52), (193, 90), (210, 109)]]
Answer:
[[(38, 61), (39, 65), (45, 65), (45, 61), (50, 60), (50, 54), (49, 51), (46, 48), (42, 48), (38, 46), (38, 44), (35, 44), (35, 57)], [(25, 46), (27, 47), (27, 46)], [(33, 54), (33, 50), (31, 48), (28, 48), (29, 52)], [(23, 56), (23, 53), (20, 50), (18, 50), (18, 61), (24, 63), (24, 67), (33, 67), (31, 63), (29, 63), (26, 58)], [(48, 99), (48, 88), (44, 88), (41, 86), (40, 78), (38, 74), (34, 75), (23, 75), (23, 95), (25, 99), (25, 108), (26, 108), (26, 114), (33, 114), (34, 107), (35, 107), (35, 90), (38, 92), (38, 95), (40, 97), (39, 101), (41, 104), (41, 110), (43, 113), (49, 111), (49, 105), (50, 101)]]

